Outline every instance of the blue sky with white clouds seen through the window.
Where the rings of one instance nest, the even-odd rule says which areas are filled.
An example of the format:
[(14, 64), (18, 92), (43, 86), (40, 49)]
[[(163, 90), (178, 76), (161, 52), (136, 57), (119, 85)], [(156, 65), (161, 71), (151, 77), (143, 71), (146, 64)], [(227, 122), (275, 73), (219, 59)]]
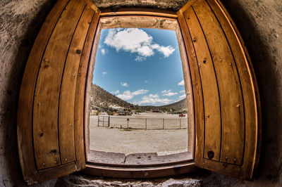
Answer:
[(93, 84), (138, 105), (167, 105), (185, 98), (176, 32), (102, 30)]

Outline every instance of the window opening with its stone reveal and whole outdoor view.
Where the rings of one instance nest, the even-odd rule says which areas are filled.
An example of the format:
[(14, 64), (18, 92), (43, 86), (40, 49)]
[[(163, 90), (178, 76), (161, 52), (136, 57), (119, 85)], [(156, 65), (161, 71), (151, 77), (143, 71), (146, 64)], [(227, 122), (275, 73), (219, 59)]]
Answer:
[[(118, 25), (114, 24), (116, 22), (118, 22)], [(142, 27), (142, 29), (134, 28), (136, 27), (136, 25), (139, 25), (139, 27)], [(118, 30), (113, 29), (116, 27), (118, 27)], [(122, 27), (126, 27), (126, 29), (122, 30), (121, 29)], [(92, 104), (95, 103), (95, 101), (92, 101), (94, 98), (88, 95), (91, 97), (88, 98), (88, 102), (90, 102), (90, 110), (92, 110), (92, 108), (98, 108), (98, 110), (102, 112), (103, 110), (102, 108), (104, 108), (105, 111), (104, 111), (104, 115), (99, 115), (99, 116), (90, 115), (90, 125), (89, 125), (90, 129), (87, 129), (87, 133), (86, 133), (86, 134), (90, 134), (89, 135), (90, 138), (87, 138), (87, 140), (90, 139), (90, 142), (87, 143), (87, 145), (89, 145), (89, 147), (87, 146), (88, 148), (87, 161), (90, 164), (94, 163), (97, 165), (99, 164), (120, 165), (120, 166), (137, 165), (139, 167), (142, 166), (145, 167), (152, 165), (165, 165), (165, 164), (170, 165), (172, 163), (174, 164), (183, 163), (183, 162), (187, 162), (188, 160), (192, 160), (192, 146), (191, 146), (193, 145), (192, 97), (190, 94), (191, 93), (190, 79), (187, 75), (185, 77), (186, 89), (184, 86), (183, 70), (181, 67), (181, 60), (180, 60), (178, 48), (180, 48), (180, 51), (182, 51), (182, 53), (183, 51), (185, 51), (185, 49), (183, 46), (183, 41), (181, 38), (177, 20), (172, 18), (168, 19), (168, 18), (160, 18), (160, 17), (148, 18), (145, 16), (104, 17), (100, 19), (98, 28), (99, 28), (98, 32), (102, 29), (112, 29), (112, 30), (103, 30), (104, 34), (103, 34), (103, 38), (101, 39), (102, 41), (101, 40), (99, 41), (99, 45), (97, 44), (95, 45), (97, 46), (98, 49), (94, 49), (94, 51), (98, 50), (99, 52), (103, 50), (104, 53), (106, 53), (105, 51), (107, 51), (107, 53), (104, 54), (105, 56), (111, 55), (111, 53), (115, 53), (116, 58), (109, 57), (109, 60), (111, 61), (107, 62), (106, 59), (108, 58), (106, 58), (103, 54), (99, 54), (99, 59), (101, 60), (99, 60), (98, 64), (95, 65), (93, 81), (95, 80), (95, 73), (96, 73), (96, 77), (99, 77), (99, 79), (96, 79), (96, 82), (98, 82), (99, 85), (102, 84), (107, 87), (115, 87), (116, 89), (118, 89), (118, 91), (120, 91), (123, 87), (125, 87), (126, 89), (123, 90), (125, 92), (120, 91), (121, 93), (117, 94), (117, 96), (125, 99), (126, 101), (133, 101), (133, 99), (138, 97), (137, 95), (134, 96), (134, 98), (131, 95), (130, 95), (131, 97), (129, 97), (128, 94), (125, 96), (125, 93), (137, 92), (134, 90), (132, 91), (129, 90), (130, 86), (134, 85), (135, 87), (139, 86), (138, 87), (139, 92), (142, 91), (143, 99), (141, 100), (141, 96), (139, 98), (140, 102), (142, 103), (147, 103), (147, 105), (154, 105), (154, 102), (157, 102), (157, 104), (159, 105), (167, 105), (168, 102), (173, 103), (172, 102), (173, 100), (177, 99), (177, 101), (180, 101), (183, 100), (183, 98), (185, 98), (187, 100), (187, 104), (186, 102), (184, 103), (185, 105), (184, 109), (177, 108), (177, 110), (178, 112), (183, 112), (183, 110), (187, 110), (187, 105), (189, 109), (186, 114), (188, 115), (188, 117), (187, 116), (179, 117), (178, 114), (172, 114), (175, 111), (173, 111), (174, 108), (170, 108), (169, 105), (168, 108), (157, 108), (157, 107), (152, 108), (149, 106), (141, 108), (140, 106), (137, 107), (137, 105), (132, 105), (132, 106), (128, 106), (130, 110), (134, 111), (134, 109), (136, 109), (137, 112), (138, 110), (143, 111), (141, 115), (133, 114), (132, 116), (127, 115), (125, 117), (123, 116), (119, 117), (116, 115), (118, 114), (118, 112), (121, 113), (121, 111), (118, 111), (118, 108), (117, 109), (113, 108), (117, 106), (111, 106), (111, 105), (105, 106), (106, 103), (100, 104), (99, 102), (101, 101), (99, 101), (99, 98), (97, 99), (97, 101), (99, 102), (96, 103), (96, 105), (94, 105)], [(161, 29), (163, 31), (158, 31), (156, 29)], [(170, 50), (169, 55), (167, 55), (167, 53), (165, 52), (159, 52), (160, 53), (159, 55), (157, 49), (152, 49), (152, 52), (156, 53), (154, 55), (154, 58), (153, 58), (153, 54), (150, 55), (146, 54), (142, 56), (142, 54), (140, 55), (140, 53), (126, 52), (129, 51), (130, 49), (126, 49), (126, 50), (120, 49), (120, 52), (118, 53), (116, 52), (116, 49), (114, 49), (114, 47), (106, 49), (107, 45), (111, 45), (111, 44), (105, 44), (106, 41), (108, 43), (110, 41), (114, 42), (113, 40), (116, 39), (116, 36), (119, 36), (120, 34), (127, 34), (131, 36), (133, 32), (135, 34), (140, 34), (144, 36), (144, 38), (147, 40), (151, 39), (149, 41), (146, 40), (147, 42), (150, 42), (149, 45), (150, 47), (158, 46), (159, 50), (161, 48)], [(147, 33), (154, 34), (154, 39), (151, 35)], [(160, 41), (160, 39), (157, 37), (157, 34), (163, 34), (166, 37), (171, 36), (172, 39), (168, 40), (166, 37), (162, 37), (161, 39), (166, 39), (168, 41), (167, 42)], [(97, 36), (99, 36), (99, 34), (97, 34)], [(159, 42), (158, 44), (155, 43), (156, 42), (155, 39), (157, 39), (157, 42)], [(118, 44), (116, 43), (114, 44), (121, 46), (122, 42), (123, 41), (119, 41)], [(166, 44), (166, 46), (162, 46), (163, 43)], [(131, 51), (134, 50), (131, 49)], [(164, 55), (166, 56), (164, 57)], [(173, 56), (173, 57), (168, 58), (168, 56)], [(182, 59), (183, 63), (184, 64), (188, 63), (186, 58), (184, 58), (184, 55), (182, 54), (181, 56), (183, 58)], [(128, 62), (125, 62), (124, 60), (118, 60), (120, 58), (128, 59)], [(145, 60), (145, 58), (147, 58), (147, 60)], [(105, 65), (105, 64), (110, 64), (110, 65)], [(90, 66), (94, 67), (94, 65), (90, 65)], [(102, 70), (102, 68), (104, 69)], [(108, 69), (106, 70), (105, 68)], [(125, 70), (128, 70), (129, 72), (125, 72)], [(166, 71), (166, 72), (162, 73), (161, 71)], [(97, 75), (98, 73), (99, 75)], [(116, 77), (113, 78), (113, 74), (115, 74)], [(88, 84), (90, 84), (90, 86), (92, 87), (90, 88), (90, 86), (88, 86), (89, 88), (88, 90), (91, 92), (94, 91), (94, 89), (97, 89), (99, 91), (95, 91), (95, 93), (103, 92), (101, 93), (100, 96), (103, 97), (105, 95), (110, 97), (110, 94), (106, 93), (103, 89), (100, 89), (99, 86), (92, 85), (92, 73), (89, 75), (90, 78)], [(131, 77), (129, 75), (131, 75)], [(120, 82), (122, 84), (123, 81), (123, 79), (120, 79), (121, 77), (127, 80), (126, 85), (123, 86), (119, 85)], [(136, 77), (139, 77), (139, 79)], [(118, 82), (119, 79), (120, 81)], [(137, 81), (135, 79), (138, 79), (139, 82), (135, 82)], [(142, 83), (140, 79), (142, 79)], [(149, 82), (148, 80), (147, 82), (145, 82), (145, 79), (149, 79)], [(174, 80), (175, 85), (173, 84), (172, 79), (175, 79)], [(102, 80), (104, 80), (104, 82)], [(168, 82), (171, 83), (168, 84)], [(152, 86), (151, 84), (154, 85)], [(102, 88), (104, 88), (104, 86)], [(141, 88), (140, 86), (143, 87)], [(168, 86), (172, 86), (173, 89), (177, 89), (177, 92), (175, 92), (176, 90), (168, 91), (169, 90)], [(159, 90), (159, 93), (158, 92), (156, 93), (156, 91), (150, 92), (151, 89), (157, 90), (158, 87), (162, 88), (161, 90)], [(163, 93), (161, 93), (161, 91)], [(180, 93), (178, 94), (179, 91)], [(147, 93), (147, 95), (145, 93)], [(148, 98), (149, 93), (151, 93), (154, 99)], [(171, 96), (171, 95), (169, 95), (169, 97), (166, 96), (169, 93), (172, 93), (173, 95), (176, 96)], [(157, 98), (155, 96), (157, 96)], [(180, 96), (182, 96), (182, 98), (180, 98)], [(135, 100), (135, 103), (136, 102), (137, 101)], [(137, 104), (142, 105), (142, 103), (137, 103)], [(121, 108), (121, 106), (118, 107)], [(111, 112), (107, 111), (108, 114), (110, 115), (106, 113), (106, 110), (111, 110)], [(125, 106), (123, 110), (126, 110), (127, 112), (128, 108), (126, 108)], [(147, 112), (145, 112), (145, 110), (147, 110)], [(157, 113), (157, 110), (159, 113)], [(168, 110), (168, 113), (166, 113), (167, 111), (165, 110)], [(123, 111), (122, 113), (125, 112)], [(126, 122), (127, 119), (128, 121)], [(128, 127), (126, 126), (126, 123), (128, 124)], [(111, 128), (102, 128), (99, 126), (111, 127)], [(187, 139), (188, 137), (189, 137), (189, 143)], [(127, 138), (131, 138), (131, 139), (128, 139), (128, 141), (126, 142), (123, 141), (123, 139), (127, 139)], [(137, 141), (137, 138), (139, 138), (139, 141)], [(133, 141), (135, 139), (136, 141)], [(118, 143), (121, 141), (123, 142), (122, 145)], [(147, 142), (146, 145), (145, 142)], [(166, 146), (164, 146), (165, 144)], [(188, 145), (190, 145), (190, 147), (188, 147)], [(177, 154), (173, 154), (173, 153), (177, 153)]]

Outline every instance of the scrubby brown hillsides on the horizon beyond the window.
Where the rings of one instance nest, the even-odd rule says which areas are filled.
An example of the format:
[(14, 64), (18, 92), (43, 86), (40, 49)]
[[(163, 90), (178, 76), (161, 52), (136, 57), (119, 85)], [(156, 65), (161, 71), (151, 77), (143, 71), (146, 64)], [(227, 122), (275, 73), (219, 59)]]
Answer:
[(96, 84), (92, 84), (91, 86), (91, 100), (90, 107), (99, 107), (99, 108), (109, 108), (110, 106), (121, 107), (121, 108), (131, 108), (133, 110), (170, 110), (174, 109), (178, 110), (186, 110), (186, 98), (176, 103), (171, 103), (169, 105), (162, 106), (138, 106), (123, 101), (121, 98), (114, 96), (108, 91), (102, 89), (100, 86)]

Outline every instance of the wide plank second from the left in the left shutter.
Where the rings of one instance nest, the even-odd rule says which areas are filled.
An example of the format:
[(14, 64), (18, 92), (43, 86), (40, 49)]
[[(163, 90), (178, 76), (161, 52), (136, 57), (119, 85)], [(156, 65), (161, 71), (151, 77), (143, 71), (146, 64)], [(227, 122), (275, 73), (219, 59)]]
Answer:
[(33, 112), (33, 140), (37, 169), (61, 165), (58, 110), (63, 67), (75, 26), (85, 2), (71, 0), (51, 34), (37, 77)]

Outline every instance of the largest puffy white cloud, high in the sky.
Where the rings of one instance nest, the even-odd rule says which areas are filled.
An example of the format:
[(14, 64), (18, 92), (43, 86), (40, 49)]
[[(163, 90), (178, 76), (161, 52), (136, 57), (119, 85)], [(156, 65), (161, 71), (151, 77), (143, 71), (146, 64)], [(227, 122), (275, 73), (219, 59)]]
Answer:
[(111, 29), (104, 40), (104, 44), (114, 47), (116, 51), (123, 50), (137, 53), (136, 61), (142, 61), (148, 56), (153, 56), (155, 51), (162, 53), (166, 58), (176, 50), (173, 46), (155, 44), (152, 36), (138, 28)]

